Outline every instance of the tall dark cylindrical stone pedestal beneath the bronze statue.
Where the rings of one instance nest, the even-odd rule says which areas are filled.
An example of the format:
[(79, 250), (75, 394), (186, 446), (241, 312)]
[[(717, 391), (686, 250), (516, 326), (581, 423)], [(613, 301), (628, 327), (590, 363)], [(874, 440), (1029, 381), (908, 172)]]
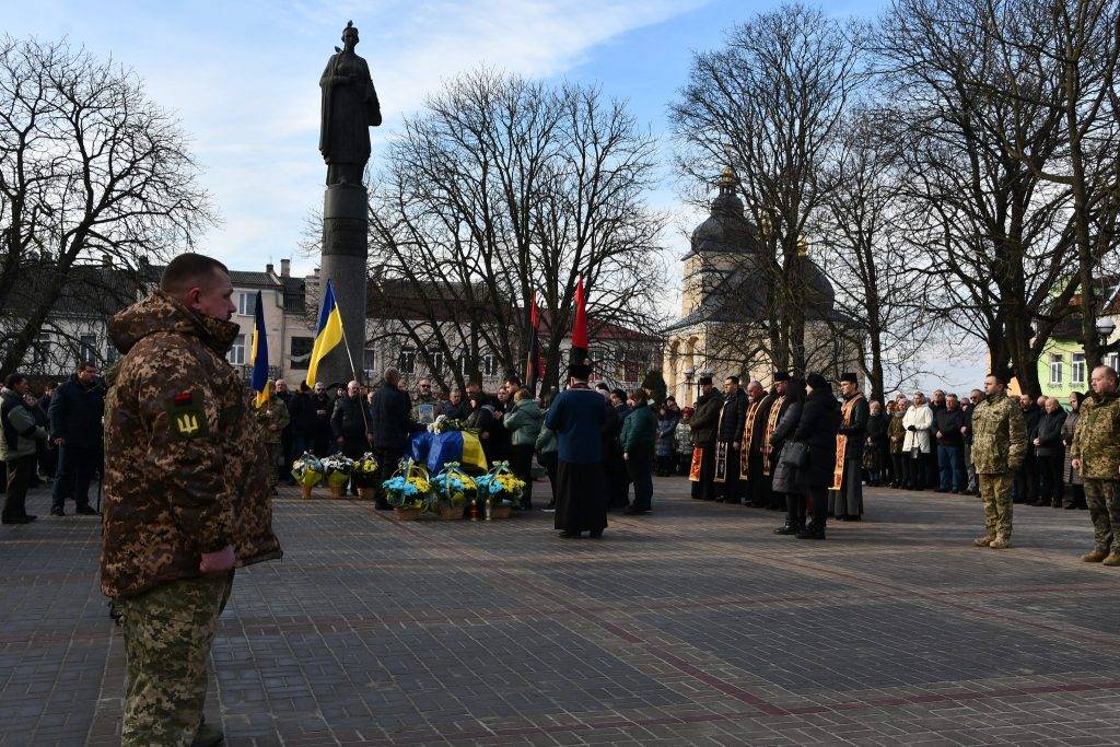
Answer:
[[(327, 187), (323, 199), (323, 265), (319, 269), (321, 292), (326, 292), (327, 280), (335, 288), (335, 300), (360, 381), (364, 379), (362, 368), (365, 365), (367, 204), (365, 187), (361, 185)], [(319, 380), (345, 386), (351, 379), (354, 379), (351, 358), (339, 345), (319, 364)]]

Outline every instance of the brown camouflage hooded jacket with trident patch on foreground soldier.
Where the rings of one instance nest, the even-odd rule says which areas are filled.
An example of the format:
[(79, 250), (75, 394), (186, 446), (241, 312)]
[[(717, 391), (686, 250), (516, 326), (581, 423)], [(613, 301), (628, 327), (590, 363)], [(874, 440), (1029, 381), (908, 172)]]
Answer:
[(105, 407), (105, 595), (197, 576), (228, 544), (241, 566), (279, 558), (264, 445), (224, 357), (237, 325), (157, 291), (109, 332), (124, 358)]

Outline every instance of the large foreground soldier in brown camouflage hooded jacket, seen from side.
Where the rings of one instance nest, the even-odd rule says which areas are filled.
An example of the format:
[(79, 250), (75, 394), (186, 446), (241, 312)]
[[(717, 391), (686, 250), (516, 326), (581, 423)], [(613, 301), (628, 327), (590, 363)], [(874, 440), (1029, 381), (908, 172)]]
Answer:
[(124, 632), (123, 745), (222, 741), (203, 703), (233, 568), (281, 554), (264, 445), (225, 360), (232, 292), (224, 265), (183, 254), (109, 326), (124, 358), (106, 403), (101, 586)]

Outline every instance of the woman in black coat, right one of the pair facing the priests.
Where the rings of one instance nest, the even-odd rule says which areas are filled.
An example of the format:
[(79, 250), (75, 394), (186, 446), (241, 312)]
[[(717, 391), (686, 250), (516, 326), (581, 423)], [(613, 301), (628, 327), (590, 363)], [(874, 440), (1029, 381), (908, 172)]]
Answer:
[(832, 393), (832, 385), (819, 373), (805, 377), (808, 395), (801, 409), (801, 420), (793, 440), (809, 449), (809, 460), (797, 468), (797, 483), (804, 487), (813, 520), (797, 532), (799, 540), (823, 540), (828, 514), (825, 499), (837, 466), (837, 432), (840, 430), (840, 402)]

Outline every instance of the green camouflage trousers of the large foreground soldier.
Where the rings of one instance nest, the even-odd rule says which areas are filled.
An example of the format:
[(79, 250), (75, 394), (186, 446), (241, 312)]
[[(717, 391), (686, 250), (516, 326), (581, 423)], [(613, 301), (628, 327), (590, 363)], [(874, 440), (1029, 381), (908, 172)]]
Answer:
[(189, 745), (206, 702), (206, 657), (233, 572), (171, 581), (118, 601), (128, 682), (121, 745)]

